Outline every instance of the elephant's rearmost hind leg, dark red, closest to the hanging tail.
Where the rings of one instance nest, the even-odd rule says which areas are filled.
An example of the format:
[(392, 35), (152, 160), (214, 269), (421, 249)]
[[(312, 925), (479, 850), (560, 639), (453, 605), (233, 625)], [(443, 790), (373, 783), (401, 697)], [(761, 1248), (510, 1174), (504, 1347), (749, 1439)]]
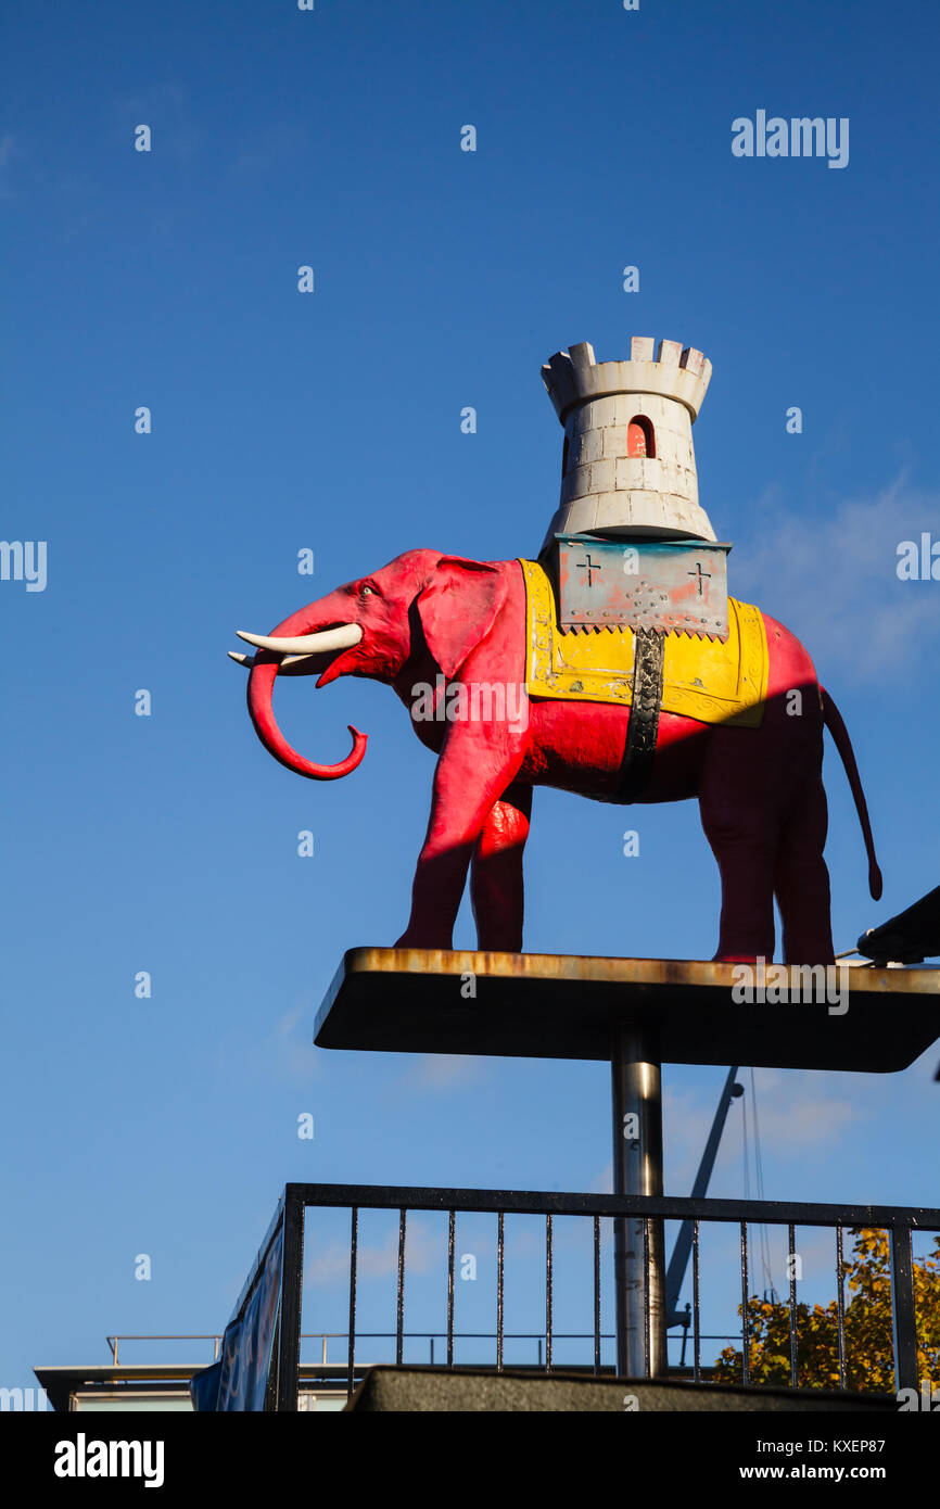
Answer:
[(797, 794), (780, 834), (774, 890), (788, 964), (831, 964), (828, 869), (822, 857), (828, 809), (816, 774)]

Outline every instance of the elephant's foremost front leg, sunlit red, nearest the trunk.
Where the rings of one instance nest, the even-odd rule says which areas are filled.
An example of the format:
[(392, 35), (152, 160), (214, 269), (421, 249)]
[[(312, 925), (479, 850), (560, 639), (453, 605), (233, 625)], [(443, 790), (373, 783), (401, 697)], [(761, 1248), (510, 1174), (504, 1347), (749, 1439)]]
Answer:
[(466, 872), (484, 822), (511, 785), (522, 748), (481, 723), (456, 723), (435, 771), (432, 815), (418, 856), (412, 911), (398, 948), (451, 948)]

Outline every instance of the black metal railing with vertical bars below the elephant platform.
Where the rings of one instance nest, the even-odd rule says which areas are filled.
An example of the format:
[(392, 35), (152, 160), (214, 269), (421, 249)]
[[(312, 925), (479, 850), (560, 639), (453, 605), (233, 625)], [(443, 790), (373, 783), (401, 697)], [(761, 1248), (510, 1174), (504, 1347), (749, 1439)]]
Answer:
[[(705, 1379), (702, 1366), (702, 1342), (714, 1335), (702, 1331), (702, 1227), (724, 1224), (738, 1227), (739, 1233), (739, 1268), (741, 1268), (741, 1382), (748, 1385), (750, 1378), (750, 1320), (748, 1320), (748, 1277), (750, 1248), (748, 1227), (768, 1225), (786, 1230), (789, 1248), (795, 1251), (795, 1227), (828, 1227), (834, 1234), (834, 1278), (836, 1278), (836, 1328), (839, 1352), (839, 1387), (846, 1387), (846, 1343), (845, 1343), (845, 1257), (843, 1234), (848, 1228), (875, 1228), (889, 1236), (890, 1243), (890, 1290), (892, 1290), (892, 1342), (895, 1361), (895, 1388), (917, 1388), (917, 1317), (914, 1307), (914, 1263), (911, 1236), (914, 1231), (940, 1231), (940, 1210), (911, 1209), (898, 1206), (833, 1206), (810, 1203), (782, 1203), (757, 1200), (691, 1200), (656, 1195), (593, 1195), (593, 1194), (557, 1194), (557, 1192), (524, 1192), (495, 1189), (425, 1189), (425, 1188), (383, 1188), (377, 1185), (287, 1185), (278, 1204), (278, 1210), (269, 1227), (264, 1243), (246, 1284), (232, 1319), (235, 1319), (258, 1278), (269, 1249), (275, 1239), (282, 1234), (284, 1255), (281, 1268), (281, 1304), (279, 1322), (275, 1332), (272, 1364), (267, 1390), (267, 1409), (296, 1411), (297, 1385), (300, 1370), (300, 1313), (303, 1287), (303, 1234), (305, 1213), (308, 1209), (347, 1209), (350, 1213), (349, 1228), (349, 1329), (346, 1332), (346, 1381), (347, 1393), (352, 1394), (356, 1376), (362, 1364), (356, 1364), (356, 1301), (358, 1301), (358, 1246), (359, 1246), (359, 1213), (362, 1210), (389, 1210), (398, 1213), (398, 1243), (397, 1243), (397, 1289), (395, 1289), (395, 1329), (389, 1332), (359, 1332), (359, 1340), (367, 1335), (388, 1335), (395, 1340), (395, 1363), (403, 1363), (404, 1340), (413, 1332), (404, 1329), (404, 1292), (406, 1292), (406, 1234), (409, 1212), (441, 1212), (448, 1216), (447, 1242), (447, 1326), (441, 1332), (445, 1342), (445, 1358), (442, 1366), (454, 1366), (454, 1342), (465, 1332), (454, 1328), (454, 1228), (457, 1215), (489, 1213), (496, 1218), (496, 1331), (495, 1331), (495, 1370), (504, 1370), (505, 1342), (519, 1335), (504, 1329), (504, 1277), (505, 1277), (505, 1216), (533, 1215), (545, 1221), (545, 1363), (543, 1370), (551, 1372), (554, 1366), (552, 1349), (561, 1338), (554, 1331), (554, 1216), (579, 1216), (593, 1225), (593, 1332), (587, 1340), (593, 1343), (593, 1360), (588, 1370), (594, 1375), (608, 1372), (601, 1366), (601, 1343), (607, 1335), (601, 1331), (601, 1222), (604, 1219), (632, 1219), (643, 1225), (644, 1246), (649, 1243), (650, 1222), (653, 1221), (691, 1221), (693, 1222), (693, 1366), (691, 1376), (696, 1382)], [(649, 1334), (649, 1287), (644, 1292), (644, 1307), (647, 1314)], [(791, 1387), (800, 1385), (798, 1378), (798, 1308), (797, 1308), (797, 1277), (791, 1265), (789, 1283), (789, 1363)], [(324, 1332), (314, 1332), (323, 1338)], [(338, 1335), (339, 1332), (327, 1332)], [(432, 1332), (422, 1332), (425, 1337)], [(533, 1335), (527, 1332), (527, 1335)], [(572, 1332), (564, 1332), (569, 1338)], [(720, 1338), (720, 1337), (715, 1337)], [(649, 1349), (646, 1357), (644, 1376), (650, 1376)]]

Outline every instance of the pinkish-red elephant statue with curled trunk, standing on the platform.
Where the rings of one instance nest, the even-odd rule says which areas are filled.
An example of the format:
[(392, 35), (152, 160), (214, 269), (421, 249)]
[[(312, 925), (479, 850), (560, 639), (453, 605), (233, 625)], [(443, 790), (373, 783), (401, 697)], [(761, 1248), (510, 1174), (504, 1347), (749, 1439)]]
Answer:
[[(699, 798), (721, 874), (717, 960), (774, 957), (774, 896), (786, 963), (833, 963), (830, 883), (822, 850), (827, 803), (822, 727), (830, 729), (865, 834), (869, 889), (881, 895), (865, 794), (845, 724), (797, 638), (763, 617), (768, 682), (759, 727), (706, 724), (661, 712), (644, 789), (625, 798), (631, 706), (525, 693), (527, 589), (522, 566), (415, 549), (291, 614), (270, 635), (240, 634), (253, 658), (247, 706), (258, 738), (312, 780), (353, 771), (365, 735), (336, 765), (317, 765), (284, 739), (272, 708), (278, 675), (389, 682), (415, 733), (438, 756), (412, 908), (398, 946), (451, 948), (469, 869), (481, 949), (522, 949), (522, 853), (534, 786), (601, 801)], [(460, 688), (466, 694), (460, 700)], [(480, 688), (487, 694), (474, 696)], [(502, 696), (493, 690), (502, 688)], [(788, 714), (801, 693), (803, 714)], [(442, 715), (442, 709), (447, 715)]]

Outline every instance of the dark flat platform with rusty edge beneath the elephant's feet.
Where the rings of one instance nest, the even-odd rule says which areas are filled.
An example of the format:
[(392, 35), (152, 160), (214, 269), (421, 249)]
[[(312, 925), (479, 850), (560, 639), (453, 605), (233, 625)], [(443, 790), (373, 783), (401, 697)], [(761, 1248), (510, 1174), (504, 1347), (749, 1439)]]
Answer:
[(845, 967), (845, 979), (839, 1013), (825, 1000), (735, 1003), (735, 966), (699, 960), (355, 948), (314, 1041), (610, 1061), (614, 1029), (643, 1023), (662, 1062), (892, 1073), (940, 1037), (940, 969)]

